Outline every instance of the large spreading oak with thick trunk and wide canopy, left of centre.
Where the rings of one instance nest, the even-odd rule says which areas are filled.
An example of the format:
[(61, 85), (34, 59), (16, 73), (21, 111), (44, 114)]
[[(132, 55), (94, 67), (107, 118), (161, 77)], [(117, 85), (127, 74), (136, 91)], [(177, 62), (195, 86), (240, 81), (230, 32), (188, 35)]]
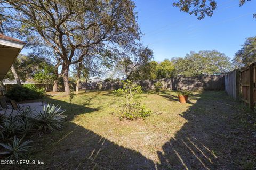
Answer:
[(69, 66), (95, 46), (129, 47), (140, 31), (130, 0), (0, 0), (3, 17), (15, 20), (29, 43), (44, 43), (61, 58), (66, 94)]

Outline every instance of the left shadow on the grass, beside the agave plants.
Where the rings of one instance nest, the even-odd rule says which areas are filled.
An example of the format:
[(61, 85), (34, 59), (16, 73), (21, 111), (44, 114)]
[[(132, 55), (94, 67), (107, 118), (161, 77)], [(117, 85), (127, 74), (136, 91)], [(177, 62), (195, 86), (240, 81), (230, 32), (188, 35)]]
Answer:
[[(91, 114), (99, 108), (90, 108), (49, 99), (49, 103), (59, 104), (66, 109), (67, 124), (62, 131), (45, 134), (36, 142), (35, 159), (44, 165), (34, 165), (37, 169), (154, 169), (153, 161), (139, 152), (119, 146), (105, 137), (75, 124), (72, 120), (79, 114)], [(106, 133), (107, 133), (106, 129)], [(18, 166), (24, 168), (24, 166)], [(26, 168), (31, 166), (25, 166)]]

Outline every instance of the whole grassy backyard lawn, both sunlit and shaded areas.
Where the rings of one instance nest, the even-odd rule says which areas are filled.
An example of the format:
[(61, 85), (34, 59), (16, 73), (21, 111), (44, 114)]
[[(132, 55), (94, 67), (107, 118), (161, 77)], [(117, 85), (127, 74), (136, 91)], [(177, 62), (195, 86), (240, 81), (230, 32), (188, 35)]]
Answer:
[[(66, 109), (61, 131), (33, 137), (31, 159), (42, 169), (253, 169), (255, 115), (223, 91), (195, 91), (187, 104), (174, 91), (147, 92), (146, 120), (119, 121), (111, 91), (81, 92), (74, 104), (58, 93), (45, 100)], [(25, 167), (22, 165), (21, 167)], [(31, 165), (30, 165), (31, 167)]]

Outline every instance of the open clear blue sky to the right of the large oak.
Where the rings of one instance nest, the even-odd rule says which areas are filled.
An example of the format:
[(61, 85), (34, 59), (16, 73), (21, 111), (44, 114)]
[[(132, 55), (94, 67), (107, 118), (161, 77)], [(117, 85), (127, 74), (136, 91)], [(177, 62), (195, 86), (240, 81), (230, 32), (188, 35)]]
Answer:
[(180, 12), (172, 2), (135, 0), (142, 42), (153, 49), (156, 61), (213, 49), (233, 58), (245, 38), (256, 36), (256, 1), (241, 7), (238, 0), (217, 1), (213, 16), (202, 20)]

